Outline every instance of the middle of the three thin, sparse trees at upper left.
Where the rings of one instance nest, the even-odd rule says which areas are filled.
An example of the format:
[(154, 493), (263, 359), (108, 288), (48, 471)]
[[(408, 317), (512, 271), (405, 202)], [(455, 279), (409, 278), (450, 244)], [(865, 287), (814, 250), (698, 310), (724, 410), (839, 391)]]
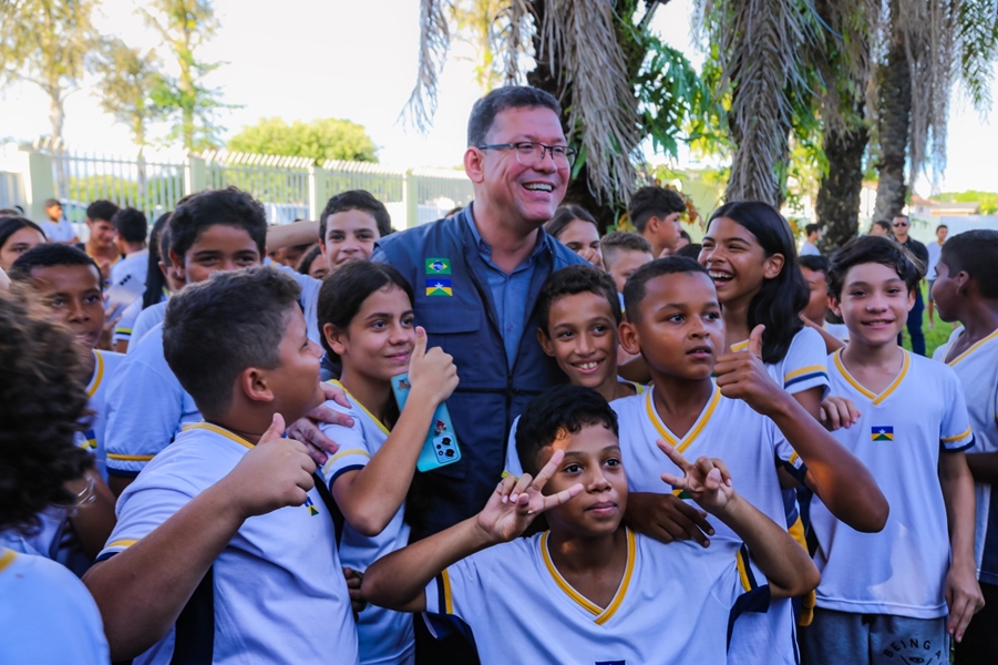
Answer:
[(143, 53), (117, 39), (107, 41), (95, 64), (101, 76), (96, 91), (101, 109), (127, 125), (140, 147), (148, 143), (150, 123), (166, 115), (152, 99), (152, 92), (164, 85), (162, 65), (154, 50)]

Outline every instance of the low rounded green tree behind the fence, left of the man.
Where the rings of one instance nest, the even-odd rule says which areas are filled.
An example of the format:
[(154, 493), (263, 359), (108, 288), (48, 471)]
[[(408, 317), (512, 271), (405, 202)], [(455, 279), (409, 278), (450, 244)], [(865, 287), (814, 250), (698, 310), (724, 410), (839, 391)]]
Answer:
[(234, 152), (310, 157), (317, 164), (326, 160), (378, 161), (378, 149), (363, 126), (333, 117), (290, 125), (279, 117), (264, 117), (229, 139), (226, 147)]

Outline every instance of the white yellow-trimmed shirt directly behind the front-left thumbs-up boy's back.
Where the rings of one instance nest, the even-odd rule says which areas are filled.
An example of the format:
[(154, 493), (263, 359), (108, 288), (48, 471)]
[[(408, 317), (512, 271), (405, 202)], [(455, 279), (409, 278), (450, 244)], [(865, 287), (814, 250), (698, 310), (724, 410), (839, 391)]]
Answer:
[(200, 411), (163, 356), (162, 324), (128, 351), (107, 388), (105, 449), (107, 473), (134, 478)]

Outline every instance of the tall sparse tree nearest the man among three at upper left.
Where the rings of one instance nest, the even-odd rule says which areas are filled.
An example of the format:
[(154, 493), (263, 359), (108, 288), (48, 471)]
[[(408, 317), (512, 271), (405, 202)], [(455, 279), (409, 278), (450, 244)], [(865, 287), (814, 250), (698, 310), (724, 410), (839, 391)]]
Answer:
[(229, 106), (217, 89), (205, 86), (204, 79), (224, 63), (204, 62), (195, 54), (218, 29), (212, 1), (152, 0), (147, 4), (138, 13), (160, 34), (179, 70), (176, 79), (163, 78), (152, 90), (156, 105), (177, 117), (168, 139), (181, 139), (187, 150), (214, 147), (223, 129), (216, 124), (217, 112)]

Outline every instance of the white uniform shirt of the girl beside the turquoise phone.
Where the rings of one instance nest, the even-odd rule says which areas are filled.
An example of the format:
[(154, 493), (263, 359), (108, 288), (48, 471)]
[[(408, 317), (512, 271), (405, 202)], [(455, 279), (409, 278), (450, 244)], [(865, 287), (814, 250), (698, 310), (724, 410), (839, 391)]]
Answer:
[[(339, 381), (329, 382), (343, 388)], [(353, 405), (349, 409), (331, 400), (327, 401), (326, 406), (353, 418), (353, 427), (320, 424), (322, 433), (339, 446), (339, 450), (322, 468), (330, 491), (340, 475), (363, 469), (381, 450), (389, 436), (388, 429), (364, 409), (356, 397), (348, 392), (347, 398)], [(403, 502), (388, 526), (374, 536), (359, 533), (344, 521), (342, 514), (338, 514), (337, 521), (342, 524), (338, 549), (343, 567), (363, 572), (385, 554), (409, 544), (409, 525), (403, 521), (404, 512)], [(360, 662), (363, 665), (411, 663), (415, 656), (415, 636), (412, 632), (412, 615), (409, 613), (392, 612), (369, 604), (360, 613), (357, 636), (360, 643)]]

